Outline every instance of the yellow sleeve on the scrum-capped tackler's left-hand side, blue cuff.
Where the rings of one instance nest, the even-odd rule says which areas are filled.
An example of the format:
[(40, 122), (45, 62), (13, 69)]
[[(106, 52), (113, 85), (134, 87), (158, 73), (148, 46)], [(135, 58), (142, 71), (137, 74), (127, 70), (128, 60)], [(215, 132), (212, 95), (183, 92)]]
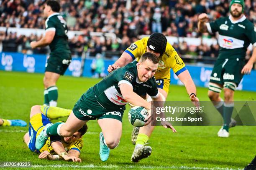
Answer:
[(135, 60), (136, 58), (137, 58), (137, 60), (139, 60), (141, 55), (143, 55), (147, 51), (148, 38), (149, 37), (144, 37), (141, 40), (134, 42), (124, 52), (131, 55), (133, 60)]

